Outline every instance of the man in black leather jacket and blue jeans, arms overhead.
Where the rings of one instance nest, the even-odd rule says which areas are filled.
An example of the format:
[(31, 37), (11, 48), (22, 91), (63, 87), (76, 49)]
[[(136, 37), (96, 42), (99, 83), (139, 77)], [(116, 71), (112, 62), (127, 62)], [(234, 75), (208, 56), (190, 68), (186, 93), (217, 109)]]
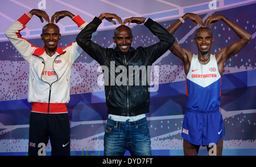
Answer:
[[(121, 25), (114, 31), (115, 49), (103, 48), (90, 39), (103, 19)], [(157, 44), (137, 49), (131, 47), (133, 36), (125, 24), (142, 24), (158, 36)], [(108, 122), (104, 136), (104, 155), (123, 155), (129, 150), (131, 155), (151, 155), (150, 134), (145, 113), (149, 112), (151, 65), (164, 54), (174, 37), (162, 25), (148, 18), (132, 17), (123, 23), (115, 14), (102, 13), (95, 17), (76, 38), (77, 44), (100, 63), (104, 70)], [(148, 68), (149, 67), (149, 68)], [(130, 70), (131, 69), (131, 70)], [(139, 69), (139, 70), (138, 70)]]

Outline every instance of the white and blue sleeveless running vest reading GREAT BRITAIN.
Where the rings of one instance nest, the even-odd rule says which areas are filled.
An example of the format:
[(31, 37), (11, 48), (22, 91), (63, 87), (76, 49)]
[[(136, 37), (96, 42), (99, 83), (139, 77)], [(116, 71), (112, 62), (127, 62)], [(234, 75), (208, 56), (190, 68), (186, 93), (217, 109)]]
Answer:
[(199, 62), (198, 55), (193, 54), (191, 66), (185, 80), (188, 96), (187, 108), (208, 111), (220, 106), (221, 75), (215, 54), (210, 54), (206, 65)]

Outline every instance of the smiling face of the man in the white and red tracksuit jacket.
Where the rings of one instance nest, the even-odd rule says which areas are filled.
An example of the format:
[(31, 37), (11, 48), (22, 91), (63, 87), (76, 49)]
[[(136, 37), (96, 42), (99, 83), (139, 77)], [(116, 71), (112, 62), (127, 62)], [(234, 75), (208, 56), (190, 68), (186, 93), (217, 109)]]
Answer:
[(55, 24), (46, 24), (43, 27), (41, 39), (44, 41), (46, 50), (55, 52), (60, 40), (60, 29)]

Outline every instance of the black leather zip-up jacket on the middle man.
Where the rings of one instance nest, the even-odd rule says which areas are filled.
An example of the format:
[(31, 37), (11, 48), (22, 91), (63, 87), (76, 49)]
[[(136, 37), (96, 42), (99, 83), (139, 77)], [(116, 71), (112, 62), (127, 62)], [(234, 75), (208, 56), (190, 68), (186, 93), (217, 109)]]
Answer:
[[(151, 66), (174, 44), (174, 37), (162, 25), (148, 18), (144, 25), (158, 36), (160, 41), (146, 48), (139, 46), (135, 50), (130, 47), (129, 52), (125, 54), (117, 47), (115, 49), (102, 48), (90, 40), (92, 33), (96, 32), (100, 24), (101, 20), (95, 17), (79, 33), (76, 42), (102, 67), (108, 113), (122, 116), (148, 113), (150, 105), (150, 93), (148, 92), (150, 86), (148, 83), (150, 83), (150, 78), (147, 82), (142, 78), (142, 74), (147, 75), (147, 71), (150, 70), (148, 75), (150, 77), (151, 68), (148, 66)], [(140, 70), (137, 70), (137, 74), (140, 74), (139, 79), (134, 77), (136, 70), (129, 72), (129, 66), (141, 67)], [(142, 68), (146, 68), (146, 72)]]

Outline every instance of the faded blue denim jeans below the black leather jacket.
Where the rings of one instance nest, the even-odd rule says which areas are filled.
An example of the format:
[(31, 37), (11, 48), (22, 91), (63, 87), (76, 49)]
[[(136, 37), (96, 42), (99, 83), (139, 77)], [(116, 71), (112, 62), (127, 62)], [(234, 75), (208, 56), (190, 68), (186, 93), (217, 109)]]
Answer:
[(134, 122), (108, 119), (104, 136), (104, 155), (123, 156), (126, 150), (132, 156), (151, 156), (151, 141), (146, 117)]

